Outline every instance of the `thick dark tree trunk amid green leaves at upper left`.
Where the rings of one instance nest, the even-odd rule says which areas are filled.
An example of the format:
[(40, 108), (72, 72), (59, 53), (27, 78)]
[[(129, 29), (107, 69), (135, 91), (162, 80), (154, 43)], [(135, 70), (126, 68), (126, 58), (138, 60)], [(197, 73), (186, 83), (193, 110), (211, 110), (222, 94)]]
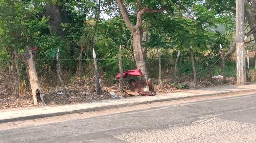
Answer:
[(49, 17), (47, 22), (50, 25), (49, 31), (51, 35), (56, 32), (57, 36), (65, 37), (68, 30), (63, 31), (61, 23), (68, 23), (67, 12), (61, 5), (50, 4), (46, 6), (45, 16)]

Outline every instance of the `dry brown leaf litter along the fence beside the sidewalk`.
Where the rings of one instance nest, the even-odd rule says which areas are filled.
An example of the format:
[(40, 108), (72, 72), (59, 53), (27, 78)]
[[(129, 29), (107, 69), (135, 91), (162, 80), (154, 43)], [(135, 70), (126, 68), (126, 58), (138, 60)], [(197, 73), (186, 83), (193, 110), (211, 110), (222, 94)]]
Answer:
[[(163, 80), (163, 87), (157, 85), (157, 81), (153, 80), (155, 84), (155, 90), (157, 93), (169, 93), (169, 92), (180, 92), (182, 89), (177, 89), (173, 85), (173, 78), (165, 78)], [(215, 87), (223, 85), (222, 78), (214, 78), (212, 84), (207, 78), (198, 79), (197, 85), (193, 83), (193, 80), (189, 76), (179, 77), (175, 81), (178, 85), (188, 85), (187, 89), (203, 88), (203, 87)], [(233, 77), (227, 77), (225, 84), (234, 84)], [(95, 88), (93, 86), (67, 86), (68, 95), (63, 95), (59, 90), (51, 90), (44, 96), (44, 101), (46, 105), (65, 105), (65, 104), (76, 104), (91, 102), (97, 100), (104, 100), (112, 98), (109, 92), (115, 92), (117, 95), (123, 95), (123, 97), (128, 97), (130, 95), (126, 93), (119, 92), (118, 84), (114, 84), (111, 87), (105, 87), (101, 95), (95, 93)], [(4, 98), (5, 97), (5, 98)], [(27, 93), (20, 97), (6, 97), (6, 95), (0, 96), (0, 109), (17, 108), (17, 107), (31, 107), (34, 106), (32, 102), (32, 96)], [(42, 106), (42, 104), (37, 105)]]

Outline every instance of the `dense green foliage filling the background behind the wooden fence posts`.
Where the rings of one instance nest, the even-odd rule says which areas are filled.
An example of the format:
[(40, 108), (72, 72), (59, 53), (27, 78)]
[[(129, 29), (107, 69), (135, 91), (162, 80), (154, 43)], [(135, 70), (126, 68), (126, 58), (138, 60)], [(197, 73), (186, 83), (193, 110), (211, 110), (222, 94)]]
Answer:
[[(33, 47), (39, 44), (40, 48), (35, 58), (36, 68), (40, 76), (47, 77), (48, 74), (52, 75), (52, 72), (55, 72), (56, 52), (59, 47), (61, 67), (63, 71), (71, 74), (68, 81), (74, 84), (77, 81), (77, 76), (74, 74), (79, 67), (81, 48), (83, 48), (82, 78), (93, 77), (91, 59), (94, 48), (100, 73), (104, 73), (104, 78), (113, 79), (119, 73), (118, 46), (122, 45), (123, 70), (136, 69), (132, 48), (133, 36), (120, 17), (118, 5), (111, 0), (101, 1), (100, 11), (103, 16), (100, 15), (97, 19), (98, 2), (98, 0), (0, 0), (0, 67), (8, 70), (6, 65), (12, 63), (14, 50), (18, 51), (20, 56), (25, 52), (26, 45)], [(135, 24), (137, 1), (124, 0), (124, 3), (129, 7), (127, 13), (131, 22)], [(57, 4), (67, 12), (68, 23), (61, 24), (62, 30), (68, 31), (65, 37), (58, 37), (54, 32), (49, 32), (51, 18), (44, 17), (48, 4)], [(198, 72), (205, 70), (205, 61), (213, 64), (219, 58), (218, 45), (221, 43), (225, 50), (230, 47), (235, 26), (234, 14), (223, 11), (234, 4), (234, 0), (230, 2), (227, 0), (142, 1), (141, 7), (153, 10), (166, 8), (163, 13), (145, 13), (142, 18), (143, 29), (146, 28), (146, 21), (150, 23), (147, 43), (145, 32), (142, 36), (142, 46), (149, 50), (146, 65), (150, 77), (158, 76), (156, 49), (161, 49), (162, 68), (169, 69), (174, 67), (177, 51), (181, 51), (178, 64), (180, 74), (193, 73), (189, 46), (193, 46)], [(22, 59), (19, 59), (18, 63), (21, 66), (21, 74), (25, 77)], [(234, 71), (234, 65), (228, 63), (227, 76), (233, 76)], [(218, 66), (214, 68), (214, 74), (221, 74)], [(186, 86), (176, 85), (176, 88), (182, 89)]]

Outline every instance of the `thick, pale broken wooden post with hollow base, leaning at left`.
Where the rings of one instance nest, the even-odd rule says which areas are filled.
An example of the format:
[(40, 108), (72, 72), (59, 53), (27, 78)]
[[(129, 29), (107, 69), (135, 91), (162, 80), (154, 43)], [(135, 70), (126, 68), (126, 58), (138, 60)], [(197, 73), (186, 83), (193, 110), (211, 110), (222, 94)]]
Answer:
[(36, 51), (32, 50), (32, 48), (26, 46), (26, 53), (23, 54), (23, 59), (26, 64), (26, 72), (28, 75), (30, 87), (32, 90), (32, 97), (34, 105), (38, 104), (38, 100), (42, 100), (40, 84), (37, 76), (37, 71), (35, 69), (34, 57)]

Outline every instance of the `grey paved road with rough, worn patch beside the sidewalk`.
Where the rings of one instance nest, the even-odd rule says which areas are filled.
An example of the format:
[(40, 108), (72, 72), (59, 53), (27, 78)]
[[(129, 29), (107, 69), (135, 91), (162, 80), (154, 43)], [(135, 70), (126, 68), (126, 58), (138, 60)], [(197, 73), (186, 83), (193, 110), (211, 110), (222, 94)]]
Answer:
[(256, 142), (256, 94), (0, 130), (0, 142)]

